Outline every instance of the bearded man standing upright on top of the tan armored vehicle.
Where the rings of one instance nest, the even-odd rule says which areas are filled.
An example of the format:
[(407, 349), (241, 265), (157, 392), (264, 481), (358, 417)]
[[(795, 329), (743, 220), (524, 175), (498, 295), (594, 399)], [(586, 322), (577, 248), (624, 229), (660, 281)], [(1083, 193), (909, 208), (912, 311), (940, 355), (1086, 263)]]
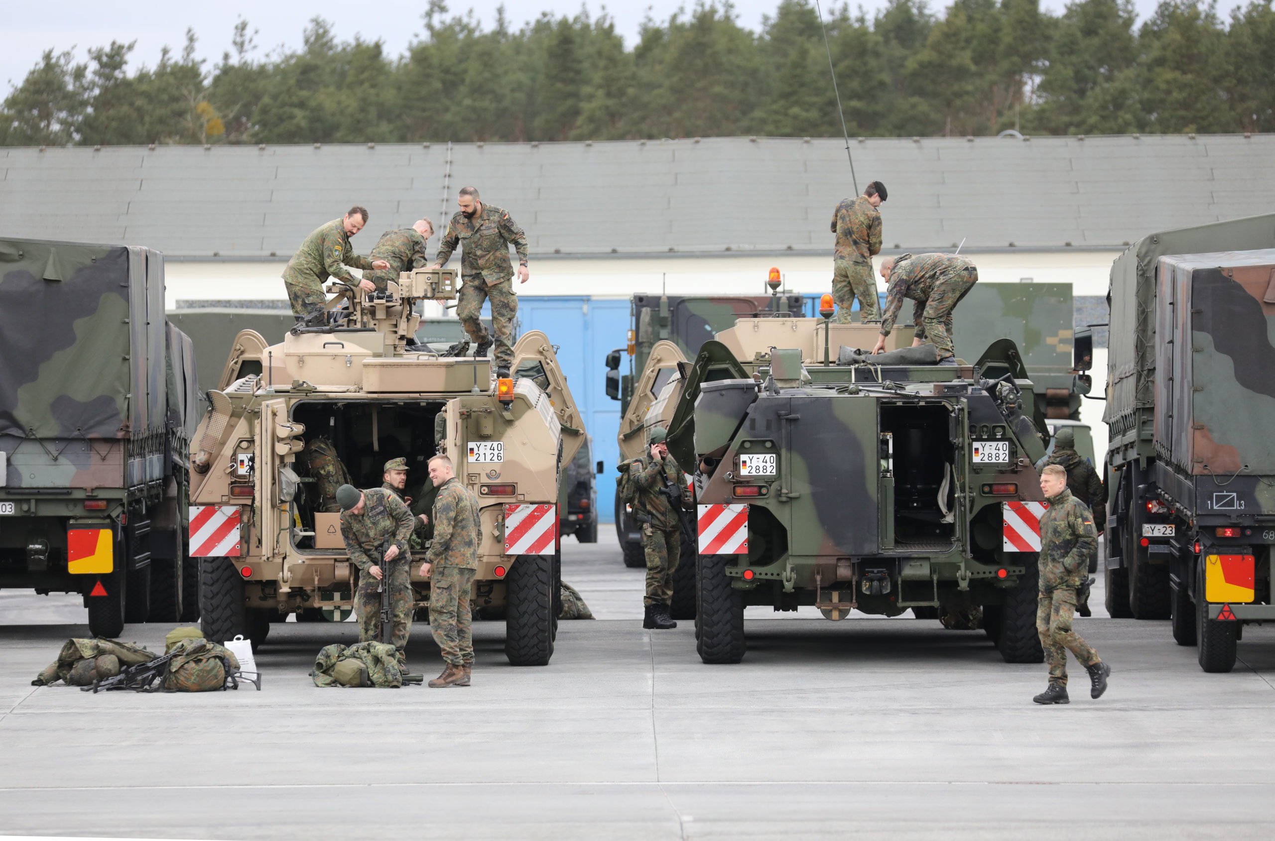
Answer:
[(441, 269), (451, 259), (456, 246), (462, 246), (460, 287), (456, 317), (465, 333), (478, 345), (476, 357), (487, 356), (492, 338), (482, 326), (483, 301), (491, 299), (491, 325), (496, 333), (496, 368), (499, 376), (509, 376), (514, 362), (514, 317), (518, 315), (518, 296), (514, 294), (514, 268), (509, 262), (509, 246), (518, 252), (519, 283), (530, 277), (527, 270), (527, 234), (510, 218), (507, 210), (483, 204), (476, 187), (462, 187), (456, 199), (460, 213), (451, 217), (442, 246), (431, 269)]

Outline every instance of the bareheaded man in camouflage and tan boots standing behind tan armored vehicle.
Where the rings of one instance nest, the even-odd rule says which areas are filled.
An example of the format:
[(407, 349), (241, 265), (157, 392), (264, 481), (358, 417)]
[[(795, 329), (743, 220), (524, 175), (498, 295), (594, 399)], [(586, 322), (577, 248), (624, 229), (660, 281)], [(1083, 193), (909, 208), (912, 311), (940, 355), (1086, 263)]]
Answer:
[(446, 666), (430, 686), (469, 686), (474, 661), (469, 590), (478, 572), (478, 497), (460, 484), (451, 459), (430, 459), (430, 479), (439, 488), (433, 502), (433, 543), (421, 564), (430, 577), (430, 629)]

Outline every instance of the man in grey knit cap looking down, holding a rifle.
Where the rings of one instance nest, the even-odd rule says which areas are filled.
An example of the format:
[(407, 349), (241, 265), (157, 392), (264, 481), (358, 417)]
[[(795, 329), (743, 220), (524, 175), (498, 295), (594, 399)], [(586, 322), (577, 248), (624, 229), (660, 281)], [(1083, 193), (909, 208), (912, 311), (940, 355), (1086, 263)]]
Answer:
[[(340, 505), (340, 536), (346, 552), (358, 567), (358, 591), (354, 614), (358, 617), (358, 641), (379, 641), (381, 594), (377, 584), (390, 589), (391, 637), (403, 670), (407, 670), (407, 638), (412, 632), (412, 536), (414, 517), (397, 496), (381, 488), (360, 491), (343, 484), (337, 489)], [(381, 557), (385, 538), (393, 538)]]

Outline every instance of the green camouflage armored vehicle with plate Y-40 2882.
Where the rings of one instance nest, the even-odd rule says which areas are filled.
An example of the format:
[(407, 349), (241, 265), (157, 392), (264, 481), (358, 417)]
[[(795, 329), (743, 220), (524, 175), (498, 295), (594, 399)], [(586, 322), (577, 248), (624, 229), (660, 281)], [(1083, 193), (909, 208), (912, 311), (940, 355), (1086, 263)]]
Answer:
[[(840, 348), (827, 366), (825, 330)], [(668, 440), (696, 471), (705, 663), (743, 658), (746, 605), (829, 619), (912, 608), (982, 622), (1006, 661), (1042, 660), (1044, 426), (1017, 349), (997, 340), (977, 366), (850, 350), (875, 340), (872, 325), (741, 320), (688, 367)]]

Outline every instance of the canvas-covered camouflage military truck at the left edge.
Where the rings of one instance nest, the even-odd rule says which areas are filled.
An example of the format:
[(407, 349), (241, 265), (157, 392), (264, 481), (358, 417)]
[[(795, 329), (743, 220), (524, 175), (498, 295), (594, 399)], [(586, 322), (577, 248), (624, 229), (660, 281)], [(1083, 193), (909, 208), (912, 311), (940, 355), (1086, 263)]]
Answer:
[(83, 595), (94, 636), (199, 615), (195, 358), (163, 302), (158, 251), (0, 240), (0, 587)]

